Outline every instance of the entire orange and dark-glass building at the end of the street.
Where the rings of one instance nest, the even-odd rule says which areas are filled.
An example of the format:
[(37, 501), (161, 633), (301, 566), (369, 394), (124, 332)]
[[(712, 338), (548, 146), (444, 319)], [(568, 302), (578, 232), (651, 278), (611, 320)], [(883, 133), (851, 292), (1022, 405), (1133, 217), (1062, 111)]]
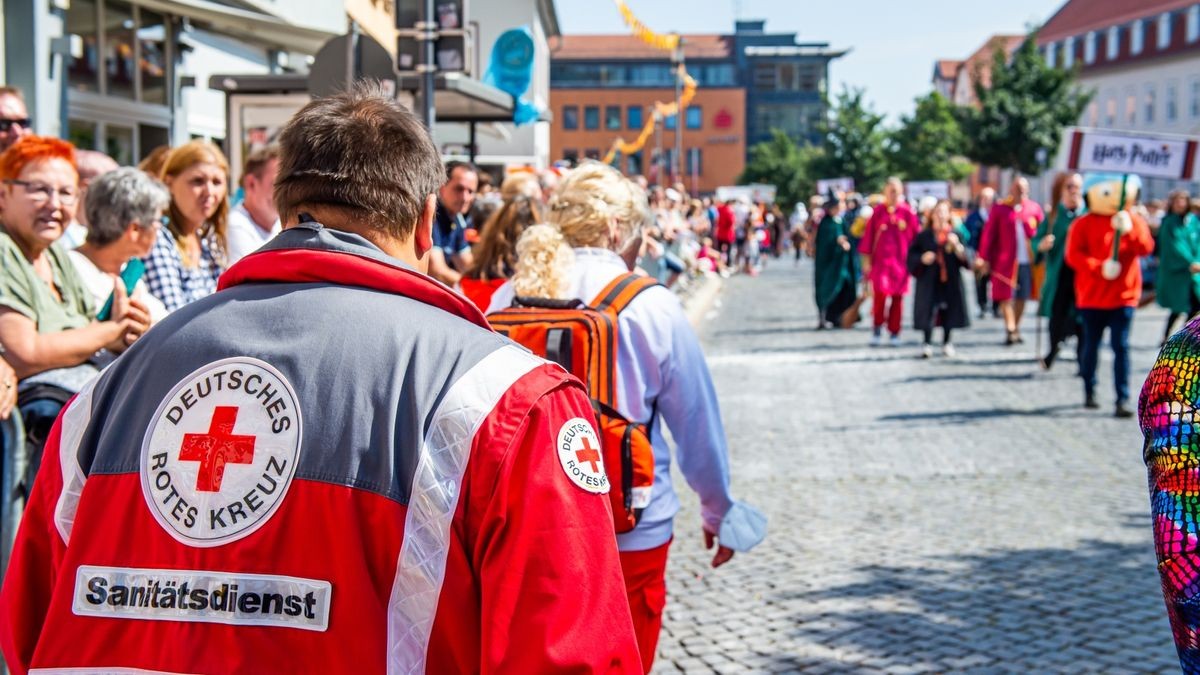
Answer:
[[(667, 119), (661, 139), (618, 159), (620, 168), (668, 183), (676, 166), (685, 185), (712, 192), (736, 184), (750, 148), (775, 130), (817, 142), (829, 61), (846, 52), (764, 29), (761, 20), (737, 22), (733, 34), (683, 36), (684, 64), (698, 84), (684, 112), (683, 161), (672, 163), (677, 120)], [(551, 156), (604, 157), (617, 138), (638, 135), (654, 102), (673, 101), (674, 88), (671, 54), (636, 37), (563, 36), (551, 50)]]

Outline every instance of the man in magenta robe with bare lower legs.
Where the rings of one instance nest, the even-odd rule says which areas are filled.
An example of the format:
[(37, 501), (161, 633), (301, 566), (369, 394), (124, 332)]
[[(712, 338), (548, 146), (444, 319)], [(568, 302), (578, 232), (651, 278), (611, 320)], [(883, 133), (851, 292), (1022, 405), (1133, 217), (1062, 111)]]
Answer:
[(1004, 315), (1006, 345), (1018, 345), (1025, 301), (1033, 297), (1033, 250), (1030, 241), (1045, 213), (1030, 199), (1030, 181), (1013, 180), (1008, 198), (991, 208), (979, 237), (977, 264), (991, 274), (991, 298)]

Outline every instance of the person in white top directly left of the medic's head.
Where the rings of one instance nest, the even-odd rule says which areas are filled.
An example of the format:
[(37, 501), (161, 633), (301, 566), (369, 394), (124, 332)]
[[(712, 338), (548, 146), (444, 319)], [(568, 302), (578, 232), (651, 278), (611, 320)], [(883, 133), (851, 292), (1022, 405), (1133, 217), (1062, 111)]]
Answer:
[(280, 173), (280, 150), (268, 145), (246, 159), (241, 171), (245, 197), (229, 211), (228, 264), (233, 264), (280, 233), (280, 211), (275, 208), (275, 177)]

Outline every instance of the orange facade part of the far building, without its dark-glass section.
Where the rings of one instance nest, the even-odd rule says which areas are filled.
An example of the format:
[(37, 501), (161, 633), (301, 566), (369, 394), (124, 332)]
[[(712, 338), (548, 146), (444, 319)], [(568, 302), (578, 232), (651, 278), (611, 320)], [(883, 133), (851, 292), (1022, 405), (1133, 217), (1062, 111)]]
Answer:
[[(551, 89), (551, 156), (568, 161), (604, 159), (614, 139), (637, 138), (655, 102), (673, 100), (674, 89), (666, 88)], [(660, 132), (642, 151), (617, 159), (618, 168), (628, 175), (646, 175), (650, 183), (673, 183), (674, 126), (674, 119), (660, 125)], [(736, 185), (746, 154), (745, 90), (698, 89), (684, 112), (682, 136), (679, 180), (689, 192), (709, 193), (721, 185)]]

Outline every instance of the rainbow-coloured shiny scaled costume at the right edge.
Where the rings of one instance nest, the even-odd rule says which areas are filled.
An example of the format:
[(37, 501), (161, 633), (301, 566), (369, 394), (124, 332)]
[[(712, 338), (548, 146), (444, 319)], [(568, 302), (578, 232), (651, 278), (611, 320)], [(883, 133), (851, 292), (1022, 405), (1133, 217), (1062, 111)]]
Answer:
[(1176, 333), (1141, 390), (1158, 573), (1180, 665), (1200, 671), (1200, 319)]

